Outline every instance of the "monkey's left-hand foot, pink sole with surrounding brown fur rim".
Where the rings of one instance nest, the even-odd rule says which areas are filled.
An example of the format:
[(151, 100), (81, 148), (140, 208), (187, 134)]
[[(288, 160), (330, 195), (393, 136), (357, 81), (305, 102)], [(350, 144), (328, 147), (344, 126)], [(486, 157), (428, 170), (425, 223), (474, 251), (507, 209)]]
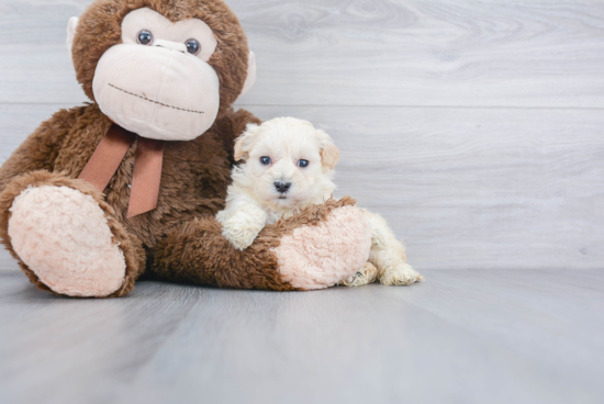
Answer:
[(83, 180), (48, 171), (14, 178), (0, 194), (0, 236), (40, 289), (122, 296), (145, 269), (141, 242)]

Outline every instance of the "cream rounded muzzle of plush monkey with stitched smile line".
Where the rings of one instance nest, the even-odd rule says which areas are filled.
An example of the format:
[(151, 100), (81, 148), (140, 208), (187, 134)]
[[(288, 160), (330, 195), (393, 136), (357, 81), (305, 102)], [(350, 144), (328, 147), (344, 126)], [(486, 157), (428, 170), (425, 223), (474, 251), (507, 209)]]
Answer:
[(199, 137), (220, 108), (214, 69), (198, 57), (160, 46), (113, 46), (97, 65), (92, 89), (107, 116), (158, 141)]

